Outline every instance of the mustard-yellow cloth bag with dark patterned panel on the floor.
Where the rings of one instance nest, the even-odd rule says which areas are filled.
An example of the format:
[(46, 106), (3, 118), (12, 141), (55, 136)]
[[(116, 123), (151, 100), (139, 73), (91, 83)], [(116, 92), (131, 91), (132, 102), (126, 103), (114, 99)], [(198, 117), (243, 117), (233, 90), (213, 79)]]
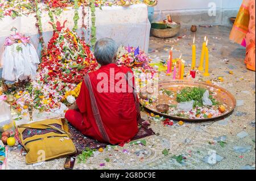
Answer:
[(64, 120), (52, 119), (18, 125), (18, 133), (27, 151), (27, 164), (76, 153), (76, 147), (69, 138), (67, 122)]

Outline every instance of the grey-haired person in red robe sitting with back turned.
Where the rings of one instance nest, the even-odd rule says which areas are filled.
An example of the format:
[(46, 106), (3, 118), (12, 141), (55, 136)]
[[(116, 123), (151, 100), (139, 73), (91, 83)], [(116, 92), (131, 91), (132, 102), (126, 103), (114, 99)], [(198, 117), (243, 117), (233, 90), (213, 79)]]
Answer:
[(101, 67), (85, 76), (76, 103), (65, 113), (85, 136), (110, 144), (129, 142), (140, 120), (132, 71), (115, 64), (117, 50), (112, 39), (97, 41), (94, 55)]

